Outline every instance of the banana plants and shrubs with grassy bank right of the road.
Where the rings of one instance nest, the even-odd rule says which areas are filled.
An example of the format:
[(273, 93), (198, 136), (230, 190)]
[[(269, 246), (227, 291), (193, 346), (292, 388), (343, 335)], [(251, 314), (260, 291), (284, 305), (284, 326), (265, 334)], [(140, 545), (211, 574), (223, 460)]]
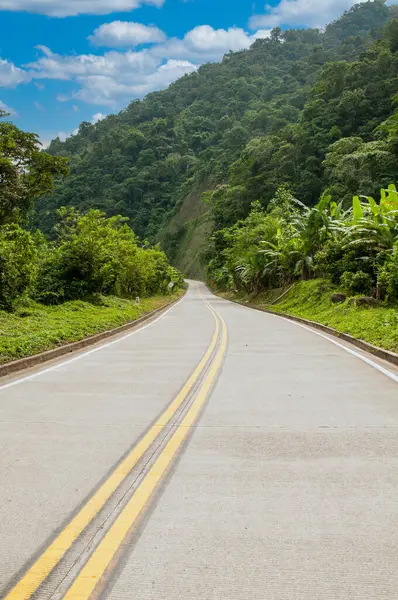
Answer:
[(327, 195), (309, 208), (281, 188), (267, 211), (255, 203), (247, 219), (217, 231), (208, 254), (213, 289), (265, 306), (293, 285), (272, 310), (398, 351), (395, 186), (348, 208)]

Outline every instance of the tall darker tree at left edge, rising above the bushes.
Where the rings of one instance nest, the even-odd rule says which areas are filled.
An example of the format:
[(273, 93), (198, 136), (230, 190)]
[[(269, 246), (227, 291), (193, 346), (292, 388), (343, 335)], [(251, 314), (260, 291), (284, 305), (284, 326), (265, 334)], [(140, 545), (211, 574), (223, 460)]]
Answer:
[(0, 225), (23, 220), (34, 200), (53, 189), (54, 177), (66, 174), (67, 161), (41, 152), (36, 134), (0, 122)]

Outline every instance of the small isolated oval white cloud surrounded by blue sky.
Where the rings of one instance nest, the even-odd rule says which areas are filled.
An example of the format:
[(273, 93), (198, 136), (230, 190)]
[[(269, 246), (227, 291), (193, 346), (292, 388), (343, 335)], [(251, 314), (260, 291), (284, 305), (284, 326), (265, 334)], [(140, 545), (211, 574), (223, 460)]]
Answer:
[(164, 42), (166, 35), (153, 25), (148, 26), (132, 21), (113, 21), (113, 23), (105, 23), (98, 27), (89, 39), (96, 46), (135, 48), (140, 44)]

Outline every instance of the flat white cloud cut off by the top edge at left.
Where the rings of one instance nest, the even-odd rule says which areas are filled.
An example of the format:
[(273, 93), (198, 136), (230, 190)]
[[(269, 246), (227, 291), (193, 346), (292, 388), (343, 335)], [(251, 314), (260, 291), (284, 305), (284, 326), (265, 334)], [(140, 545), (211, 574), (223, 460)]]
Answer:
[(0, 10), (26, 11), (50, 17), (130, 12), (142, 4), (162, 6), (164, 0), (0, 0)]

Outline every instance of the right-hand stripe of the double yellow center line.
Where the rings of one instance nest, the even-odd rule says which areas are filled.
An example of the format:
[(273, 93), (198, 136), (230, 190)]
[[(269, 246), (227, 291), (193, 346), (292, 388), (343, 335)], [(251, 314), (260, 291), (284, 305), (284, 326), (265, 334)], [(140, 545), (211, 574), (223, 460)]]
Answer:
[(126, 504), (108, 533), (99, 543), (89, 561), (80, 571), (63, 600), (88, 600), (90, 598), (97, 583), (105, 573), (131, 527), (134, 525), (152, 493), (170, 467), (173, 458), (187, 437), (191, 427), (196, 422), (219, 373), (226, 352), (227, 328), (223, 318), (220, 315), (219, 317), (222, 321), (220, 348), (201, 388), (199, 389), (194, 403), (128, 504)]

